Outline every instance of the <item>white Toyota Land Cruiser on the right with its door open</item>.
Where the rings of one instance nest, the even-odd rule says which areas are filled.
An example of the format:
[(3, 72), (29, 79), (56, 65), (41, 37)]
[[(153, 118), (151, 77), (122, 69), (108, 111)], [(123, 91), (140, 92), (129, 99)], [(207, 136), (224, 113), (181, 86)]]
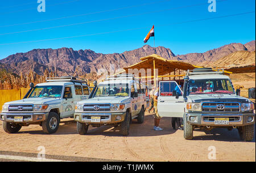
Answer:
[(254, 104), (234, 91), (223, 69), (188, 70), (183, 91), (175, 81), (160, 82), (159, 86), (158, 113), (183, 117), (185, 139), (192, 140), (195, 128), (237, 128), (242, 140), (253, 140)]

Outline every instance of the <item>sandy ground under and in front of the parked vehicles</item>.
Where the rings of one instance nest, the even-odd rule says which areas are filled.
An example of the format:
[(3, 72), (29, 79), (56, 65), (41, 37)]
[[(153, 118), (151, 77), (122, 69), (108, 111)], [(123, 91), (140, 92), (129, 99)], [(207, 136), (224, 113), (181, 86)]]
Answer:
[[(133, 120), (127, 137), (113, 126), (92, 128), (81, 136), (72, 119), (61, 120), (55, 134), (44, 134), (39, 125), (22, 127), (19, 133), (7, 134), (0, 123), (1, 151), (38, 153), (39, 146), (46, 154), (69, 157), (115, 159), (121, 161), (254, 161), (253, 142), (241, 141), (237, 129), (196, 130), (193, 140), (184, 140), (183, 130), (173, 130), (171, 119), (163, 118), (163, 131), (153, 130), (154, 117), (146, 115), (143, 124)], [(216, 159), (208, 159), (210, 146), (216, 148)]]

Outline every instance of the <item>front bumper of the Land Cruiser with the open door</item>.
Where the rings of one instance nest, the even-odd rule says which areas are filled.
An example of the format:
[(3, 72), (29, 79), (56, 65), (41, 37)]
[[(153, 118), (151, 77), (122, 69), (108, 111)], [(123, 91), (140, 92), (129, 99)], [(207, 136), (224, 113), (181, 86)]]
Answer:
[[(215, 117), (228, 117), (229, 124), (214, 124)], [(247, 118), (252, 117), (251, 121)], [(255, 124), (255, 113), (185, 113), (187, 122), (198, 126), (245, 126)]]

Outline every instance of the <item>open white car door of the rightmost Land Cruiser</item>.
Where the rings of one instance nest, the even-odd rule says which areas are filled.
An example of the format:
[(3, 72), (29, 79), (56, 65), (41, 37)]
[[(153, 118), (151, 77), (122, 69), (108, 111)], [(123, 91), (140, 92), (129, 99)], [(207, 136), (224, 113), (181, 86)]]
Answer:
[(183, 117), (183, 92), (177, 82), (159, 82), (158, 113), (161, 117)]

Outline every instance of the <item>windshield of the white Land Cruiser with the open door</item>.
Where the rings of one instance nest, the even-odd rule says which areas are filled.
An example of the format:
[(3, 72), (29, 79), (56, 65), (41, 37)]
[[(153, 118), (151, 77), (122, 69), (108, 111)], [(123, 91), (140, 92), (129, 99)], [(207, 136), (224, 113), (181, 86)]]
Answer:
[(229, 79), (191, 79), (188, 89), (189, 94), (234, 94)]

